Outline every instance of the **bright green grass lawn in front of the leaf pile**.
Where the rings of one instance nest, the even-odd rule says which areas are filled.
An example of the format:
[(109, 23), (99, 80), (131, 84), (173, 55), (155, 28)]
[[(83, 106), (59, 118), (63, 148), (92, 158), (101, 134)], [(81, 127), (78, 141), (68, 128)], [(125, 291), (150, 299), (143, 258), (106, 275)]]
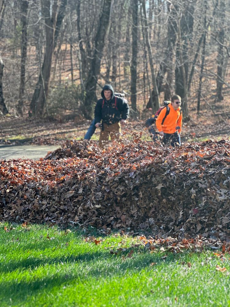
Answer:
[[(102, 241), (86, 241), (86, 232)], [(137, 243), (94, 229), (0, 223), (0, 306), (230, 306), (229, 255)]]

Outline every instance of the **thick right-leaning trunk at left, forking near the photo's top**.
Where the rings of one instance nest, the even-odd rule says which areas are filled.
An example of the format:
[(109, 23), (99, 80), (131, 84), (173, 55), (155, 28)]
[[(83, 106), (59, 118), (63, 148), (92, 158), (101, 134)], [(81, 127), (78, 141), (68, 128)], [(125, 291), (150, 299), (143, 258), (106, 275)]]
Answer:
[[(55, 0), (51, 6), (50, 0), (42, 0), (42, 10), (46, 25), (45, 26), (46, 51), (39, 79), (36, 84), (32, 101), (30, 103), (29, 116), (38, 116), (38, 117), (43, 116), (46, 109), (52, 58), (53, 58), (54, 48), (57, 43), (59, 30), (62, 24), (62, 20), (64, 18), (64, 12), (67, 0), (61, 0), (58, 14), (57, 14), (58, 10), (57, 2), (58, 1)], [(52, 12), (50, 12), (51, 7), (52, 7)]]

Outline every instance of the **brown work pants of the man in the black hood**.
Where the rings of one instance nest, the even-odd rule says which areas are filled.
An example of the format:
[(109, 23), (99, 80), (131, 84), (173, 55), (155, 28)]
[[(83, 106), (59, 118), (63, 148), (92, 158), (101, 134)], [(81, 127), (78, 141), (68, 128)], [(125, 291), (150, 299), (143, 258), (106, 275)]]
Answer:
[(119, 140), (121, 135), (121, 124), (120, 122), (115, 122), (115, 124), (107, 125), (103, 123), (103, 130), (101, 130), (99, 138), (99, 146), (104, 147), (108, 144), (109, 135), (111, 140)]

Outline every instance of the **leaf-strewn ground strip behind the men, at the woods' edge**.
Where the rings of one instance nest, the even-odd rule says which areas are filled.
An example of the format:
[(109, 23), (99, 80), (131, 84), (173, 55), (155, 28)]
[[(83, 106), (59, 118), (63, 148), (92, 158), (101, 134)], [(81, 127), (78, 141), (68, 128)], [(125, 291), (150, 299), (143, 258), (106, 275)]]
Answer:
[[(230, 139), (230, 103), (225, 101), (205, 103), (201, 106), (199, 116), (195, 102), (191, 104), (190, 121), (183, 122), (182, 142), (197, 142), (207, 139)], [(144, 122), (151, 117), (152, 112), (145, 109), (139, 118), (129, 119), (125, 128), (124, 138), (130, 131), (142, 135), (143, 140), (151, 140), (148, 131), (144, 129)], [(29, 117), (15, 117), (13, 115), (0, 117), (0, 144), (36, 144), (62, 145), (66, 140), (80, 140), (84, 138), (90, 121), (81, 115), (74, 119), (31, 119)], [(124, 132), (124, 130), (123, 130)], [(145, 133), (146, 132), (146, 133)], [(99, 130), (96, 130), (92, 140), (99, 139)], [(130, 136), (129, 136), (130, 138)]]

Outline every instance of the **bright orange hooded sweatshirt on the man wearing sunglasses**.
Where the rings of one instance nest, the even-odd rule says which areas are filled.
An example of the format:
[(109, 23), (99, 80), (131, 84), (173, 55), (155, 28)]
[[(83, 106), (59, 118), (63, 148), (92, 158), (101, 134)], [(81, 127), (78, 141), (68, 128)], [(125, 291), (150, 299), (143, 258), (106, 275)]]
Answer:
[(164, 133), (174, 133), (176, 131), (176, 126), (180, 126), (180, 129), (178, 132), (181, 132), (181, 126), (182, 126), (182, 111), (181, 108), (178, 107), (178, 109), (175, 111), (172, 104), (170, 103), (168, 105), (170, 111), (169, 114), (166, 116), (163, 125), (162, 120), (165, 117), (167, 107), (163, 108), (158, 115), (156, 119), (156, 127), (159, 131), (163, 131)]

